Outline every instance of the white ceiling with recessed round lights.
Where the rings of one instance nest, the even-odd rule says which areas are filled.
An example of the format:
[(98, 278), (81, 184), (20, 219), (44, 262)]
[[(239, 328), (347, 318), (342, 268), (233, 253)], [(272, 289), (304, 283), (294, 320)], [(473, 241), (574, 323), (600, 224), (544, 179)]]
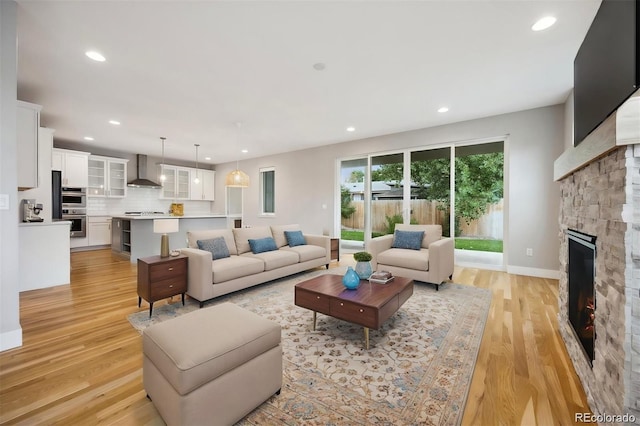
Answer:
[(56, 140), (223, 163), (564, 102), (599, 4), (19, 0), (18, 98)]

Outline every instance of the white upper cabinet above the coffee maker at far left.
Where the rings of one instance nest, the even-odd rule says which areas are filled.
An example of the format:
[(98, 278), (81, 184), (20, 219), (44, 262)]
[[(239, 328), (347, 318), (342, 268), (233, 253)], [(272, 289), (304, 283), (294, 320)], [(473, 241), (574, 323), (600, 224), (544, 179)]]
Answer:
[(38, 130), (42, 107), (18, 101), (16, 137), (18, 140), (18, 190), (38, 187)]

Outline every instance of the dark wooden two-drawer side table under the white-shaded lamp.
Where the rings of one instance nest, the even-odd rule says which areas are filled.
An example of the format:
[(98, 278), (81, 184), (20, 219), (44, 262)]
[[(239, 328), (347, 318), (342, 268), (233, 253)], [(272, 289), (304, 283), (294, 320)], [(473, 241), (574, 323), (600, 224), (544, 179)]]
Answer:
[(151, 256), (138, 259), (138, 307), (142, 299), (149, 302), (149, 316), (153, 302), (187, 292), (188, 257)]

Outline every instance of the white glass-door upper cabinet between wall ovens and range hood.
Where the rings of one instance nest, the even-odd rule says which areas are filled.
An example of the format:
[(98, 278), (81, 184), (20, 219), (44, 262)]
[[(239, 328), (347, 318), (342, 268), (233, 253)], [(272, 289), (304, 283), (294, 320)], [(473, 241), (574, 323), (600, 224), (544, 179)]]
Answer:
[(124, 198), (127, 196), (127, 163), (122, 158), (90, 155), (88, 160), (88, 197)]

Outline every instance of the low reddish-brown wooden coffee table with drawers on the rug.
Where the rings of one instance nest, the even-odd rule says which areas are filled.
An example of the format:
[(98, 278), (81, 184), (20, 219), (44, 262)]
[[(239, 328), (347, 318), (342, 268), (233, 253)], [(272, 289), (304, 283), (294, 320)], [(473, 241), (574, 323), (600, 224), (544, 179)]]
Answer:
[(364, 327), (369, 349), (369, 329), (378, 330), (413, 294), (413, 280), (395, 277), (387, 284), (360, 281), (357, 290), (347, 290), (342, 275), (320, 275), (295, 286), (295, 304), (313, 311), (313, 330), (318, 312)]

